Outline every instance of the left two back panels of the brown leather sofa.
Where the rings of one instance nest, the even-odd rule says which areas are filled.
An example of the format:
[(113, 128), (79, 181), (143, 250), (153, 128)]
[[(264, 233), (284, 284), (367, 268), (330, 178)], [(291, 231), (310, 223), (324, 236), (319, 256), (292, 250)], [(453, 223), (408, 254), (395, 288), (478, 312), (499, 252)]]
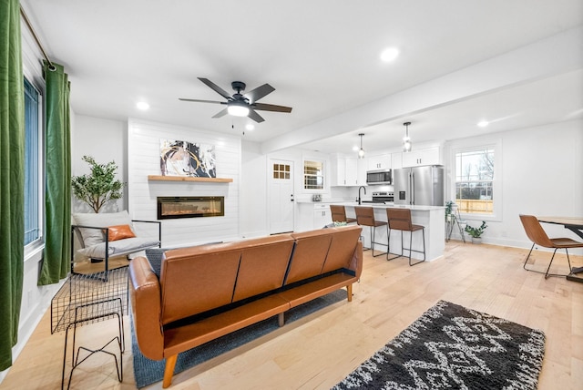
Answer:
[(161, 323), (281, 287), (289, 234), (166, 251), (160, 271)]

